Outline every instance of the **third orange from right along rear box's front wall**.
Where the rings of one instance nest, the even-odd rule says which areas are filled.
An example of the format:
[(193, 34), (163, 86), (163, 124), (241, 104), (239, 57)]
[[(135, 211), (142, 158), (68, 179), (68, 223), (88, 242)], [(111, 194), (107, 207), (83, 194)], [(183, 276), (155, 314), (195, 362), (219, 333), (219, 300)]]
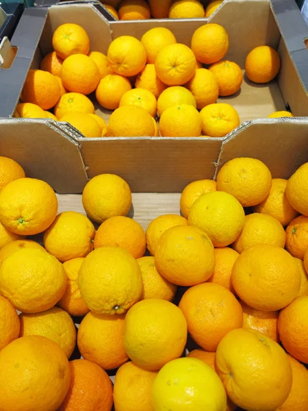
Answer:
[(122, 105), (114, 110), (108, 123), (110, 137), (153, 137), (153, 117), (139, 105)]

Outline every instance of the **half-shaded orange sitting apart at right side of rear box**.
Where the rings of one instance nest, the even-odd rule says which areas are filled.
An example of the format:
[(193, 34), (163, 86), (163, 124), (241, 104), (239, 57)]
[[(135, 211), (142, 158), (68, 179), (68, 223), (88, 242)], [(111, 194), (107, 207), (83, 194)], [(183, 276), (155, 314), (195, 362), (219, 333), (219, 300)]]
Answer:
[(268, 83), (277, 76), (280, 58), (276, 50), (269, 46), (259, 46), (248, 53), (245, 71), (248, 79), (254, 83)]

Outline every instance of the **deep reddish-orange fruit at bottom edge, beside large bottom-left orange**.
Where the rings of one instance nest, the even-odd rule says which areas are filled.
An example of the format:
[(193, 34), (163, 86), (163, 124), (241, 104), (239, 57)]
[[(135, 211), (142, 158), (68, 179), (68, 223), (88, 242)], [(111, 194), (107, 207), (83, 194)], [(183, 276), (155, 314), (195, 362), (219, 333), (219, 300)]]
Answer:
[(70, 388), (57, 411), (111, 411), (112, 382), (97, 364), (73, 360), (70, 366)]

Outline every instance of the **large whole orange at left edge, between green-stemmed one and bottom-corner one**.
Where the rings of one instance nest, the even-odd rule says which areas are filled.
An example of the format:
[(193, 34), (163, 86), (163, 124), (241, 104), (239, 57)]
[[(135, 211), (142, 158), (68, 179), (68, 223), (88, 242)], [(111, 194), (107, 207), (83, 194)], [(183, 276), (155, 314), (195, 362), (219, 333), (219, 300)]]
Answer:
[(5, 258), (0, 268), (0, 292), (22, 312), (49, 310), (66, 289), (62, 264), (46, 251), (22, 249)]

